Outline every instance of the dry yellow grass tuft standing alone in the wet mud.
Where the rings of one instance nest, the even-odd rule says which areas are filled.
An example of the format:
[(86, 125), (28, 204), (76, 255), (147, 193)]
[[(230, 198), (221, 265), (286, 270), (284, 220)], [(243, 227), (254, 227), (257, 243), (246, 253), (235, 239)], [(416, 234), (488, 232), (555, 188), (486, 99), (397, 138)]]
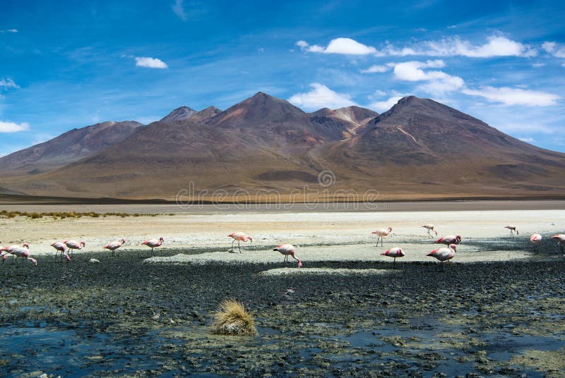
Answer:
[(255, 335), (255, 321), (242, 303), (227, 299), (214, 314), (214, 333), (222, 335)]

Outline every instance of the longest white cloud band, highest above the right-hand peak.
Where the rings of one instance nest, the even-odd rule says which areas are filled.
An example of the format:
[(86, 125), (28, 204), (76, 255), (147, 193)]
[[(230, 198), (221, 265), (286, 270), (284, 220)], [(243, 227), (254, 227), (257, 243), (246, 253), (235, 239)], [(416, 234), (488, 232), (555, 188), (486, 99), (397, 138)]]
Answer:
[(326, 54), (356, 54), (374, 56), (468, 56), (471, 58), (491, 58), (493, 56), (536, 56), (537, 51), (528, 44), (513, 41), (501, 35), (492, 35), (484, 44), (472, 44), (460, 37), (446, 37), (437, 41), (416, 42), (408, 47), (395, 47), (386, 42), (382, 49), (367, 46), (350, 38), (332, 39), (327, 47), (297, 43), (303, 51)]

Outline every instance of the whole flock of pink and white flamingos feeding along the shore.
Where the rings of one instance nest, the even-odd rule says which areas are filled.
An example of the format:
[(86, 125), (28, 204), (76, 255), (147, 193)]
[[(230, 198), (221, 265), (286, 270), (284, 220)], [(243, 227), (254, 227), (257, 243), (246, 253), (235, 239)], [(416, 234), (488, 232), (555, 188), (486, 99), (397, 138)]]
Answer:
[[(424, 226), (422, 226), (424, 228), (427, 229), (427, 233), (428, 233), (428, 238), (432, 238), (432, 232), (435, 233), (435, 235), (437, 236), (437, 232), (434, 230), (434, 225), (433, 224), (426, 224)], [(516, 233), (516, 236), (519, 235), (518, 233), (518, 228), (516, 228), (516, 226), (513, 225), (509, 225), (509, 226), (504, 226), (504, 228), (508, 228), (510, 230), (510, 236), (514, 237), (514, 233)], [(380, 230), (377, 231), (373, 231), (372, 233), (376, 234), (377, 239), (376, 239), (376, 246), (379, 246), (379, 240), (381, 240), (381, 246), (383, 245), (383, 238), (385, 236), (388, 236), (389, 233), (391, 233), (391, 231), (393, 231), (392, 227), (387, 227), (387, 228), (382, 228)], [(239, 248), (239, 252), (242, 252), (242, 248), (240, 247), (239, 243), (241, 242), (247, 242), (247, 241), (251, 241), (253, 242), (253, 238), (251, 238), (251, 236), (247, 236), (245, 233), (242, 232), (234, 232), (234, 233), (230, 233), (230, 235), (228, 235), (228, 237), (232, 238), (232, 248), (230, 249), (230, 252), (234, 252), (234, 243), (237, 241), (237, 248)], [(565, 246), (565, 234), (563, 233), (559, 233), (557, 235), (554, 235), (551, 237), (554, 240), (557, 240), (557, 245), (559, 245), (559, 248), (561, 249), (561, 253), (565, 254), (564, 251), (564, 246)], [(151, 253), (153, 254), (153, 250), (154, 248), (160, 247), (163, 243), (163, 238), (158, 238), (158, 239), (148, 239), (143, 241), (143, 243), (141, 243), (141, 245), (147, 245), (149, 248), (151, 248)], [(537, 250), (537, 245), (540, 244), (540, 242), (542, 241), (542, 236), (539, 233), (534, 233), (532, 236), (530, 236), (530, 242), (533, 243), (534, 246), (534, 250)], [(435, 250), (432, 250), (432, 252), (429, 252), (427, 254), (427, 256), (431, 256), (436, 258), (437, 260), (439, 260), (439, 262), (445, 262), (448, 260), (453, 259), (453, 257), (455, 257), (456, 255), (456, 251), (457, 251), (457, 245), (461, 242), (461, 236), (459, 235), (448, 235), (448, 236), (444, 236), (442, 238), (439, 238), (437, 240), (435, 240), (434, 243), (439, 243), (439, 244), (445, 244), (447, 245), (447, 248), (437, 248)], [(0, 242), (1, 243), (1, 242)], [(114, 256), (115, 251), (120, 248), (122, 245), (124, 245), (124, 243), (126, 243), (125, 239), (121, 239), (119, 241), (114, 241), (112, 243), (108, 243), (107, 245), (104, 245), (103, 248), (112, 251), (112, 256)], [(59, 255), (59, 252), (61, 252), (61, 260), (64, 258), (66, 259), (67, 262), (69, 262), (71, 260), (71, 255), (73, 253), (73, 250), (81, 250), (85, 247), (85, 242), (81, 241), (78, 242), (76, 240), (64, 240), (64, 241), (57, 241), (55, 243), (52, 243), (52, 247), (55, 249), (55, 259), (57, 259), (57, 255)], [(302, 267), (302, 261), (300, 261), (300, 259), (298, 258), (296, 252), (295, 252), (295, 246), (292, 244), (281, 244), (279, 245), (277, 248), (274, 248), (273, 251), (277, 251), (280, 252), (282, 255), (285, 256), (285, 262), (288, 261), (288, 257), (292, 257), (294, 260), (297, 260), (298, 262), (298, 267)], [(6, 256), (7, 255), (12, 255), (13, 256), (13, 263), (16, 262), (16, 260), (18, 258), (22, 259), (22, 264), (23, 262), (25, 262), (25, 260), (28, 260), (29, 262), (32, 263), (32, 266), (36, 266), (37, 265), (37, 260), (35, 260), (34, 258), (30, 257), (30, 245), (29, 243), (23, 243), (23, 245), (9, 245), (6, 246), (4, 248), (0, 248), (0, 252), (1, 252), (1, 257), (2, 257), (2, 264), (4, 264), (4, 262), (6, 262)], [(385, 252), (382, 252), (381, 255), (383, 256), (388, 256), (388, 257), (393, 257), (393, 264), (396, 263), (396, 258), (397, 257), (403, 257), (404, 256), (404, 252), (402, 250), (402, 248), (391, 248), (389, 250), (386, 250)]]

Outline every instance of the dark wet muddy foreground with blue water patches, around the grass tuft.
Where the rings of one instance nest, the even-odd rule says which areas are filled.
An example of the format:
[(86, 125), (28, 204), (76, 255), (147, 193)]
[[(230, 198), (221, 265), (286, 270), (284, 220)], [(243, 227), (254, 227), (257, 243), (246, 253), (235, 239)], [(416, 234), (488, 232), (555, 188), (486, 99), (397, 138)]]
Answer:
[[(37, 269), (1, 266), (0, 375), (559, 376), (563, 260), (444, 272), (410, 262), (393, 274), (335, 276), (261, 274), (293, 266), (281, 262), (143, 264), (146, 257), (87, 253), (70, 264), (41, 256)], [(254, 313), (258, 336), (210, 333), (225, 298)]]

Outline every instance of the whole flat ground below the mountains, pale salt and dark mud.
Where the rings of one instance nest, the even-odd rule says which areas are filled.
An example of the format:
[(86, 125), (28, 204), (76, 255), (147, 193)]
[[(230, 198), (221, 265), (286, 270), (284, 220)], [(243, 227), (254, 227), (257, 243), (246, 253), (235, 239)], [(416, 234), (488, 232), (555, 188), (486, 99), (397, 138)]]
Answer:
[[(549, 236), (565, 230), (564, 209), (19, 206), (130, 215), (0, 219), (1, 245), (27, 241), (38, 261), (0, 266), (0, 374), (563, 377), (565, 256)], [(425, 256), (437, 248), (421, 227), (429, 223), (463, 237), (442, 269)], [(376, 247), (371, 231), (386, 226), (393, 232)], [(254, 237), (241, 253), (228, 252), (234, 231)], [(537, 252), (532, 233), (544, 237)], [(140, 244), (158, 237), (165, 243), (152, 257)], [(86, 243), (69, 263), (49, 246), (67, 238)], [(119, 238), (128, 242), (112, 257), (102, 245)], [(297, 247), (303, 268), (283, 262), (272, 250), (280, 243)], [(379, 255), (392, 247), (405, 251), (394, 265)], [(226, 298), (251, 311), (258, 336), (211, 333)]]

